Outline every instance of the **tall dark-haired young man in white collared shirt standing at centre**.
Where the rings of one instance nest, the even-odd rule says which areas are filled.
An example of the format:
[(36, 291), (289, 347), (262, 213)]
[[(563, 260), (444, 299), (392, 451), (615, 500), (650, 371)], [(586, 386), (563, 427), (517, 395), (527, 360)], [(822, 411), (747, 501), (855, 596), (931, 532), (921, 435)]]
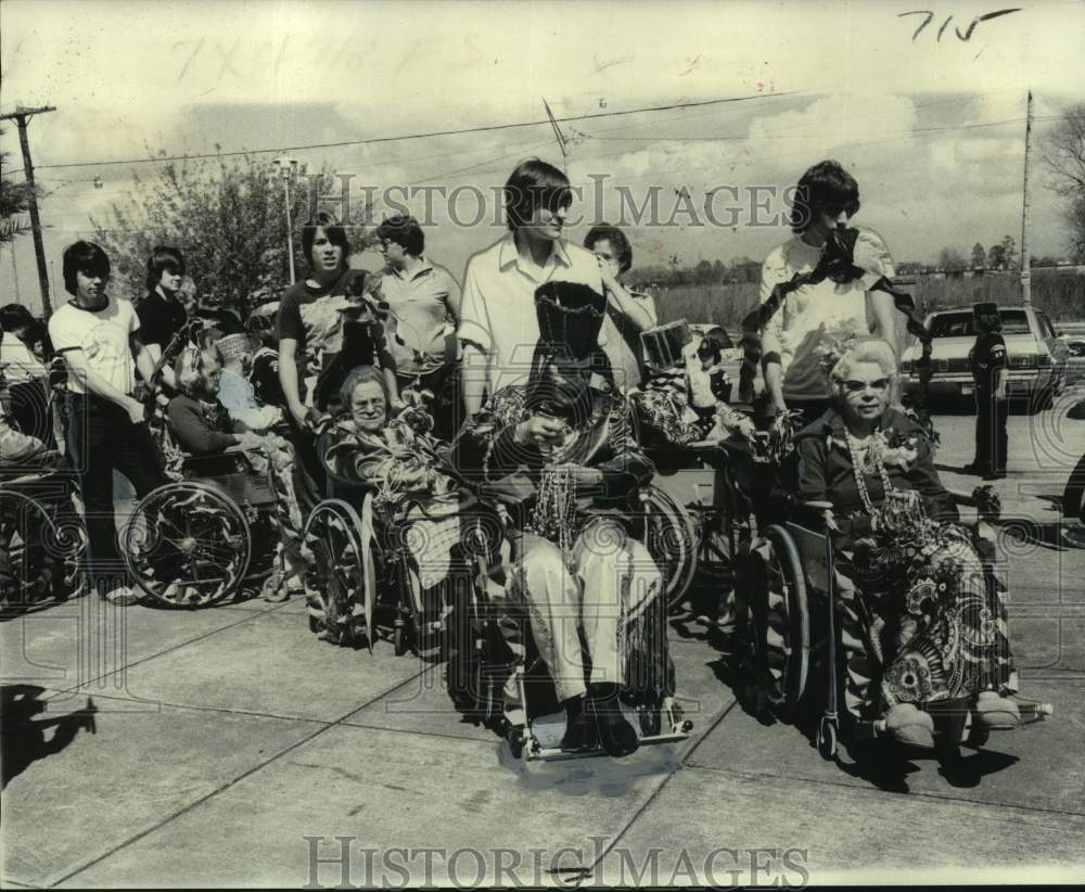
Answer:
[(579, 282), (603, 294), (599, 262), (563, 238), (572, 202), (569, 178), (528, 158), (505, 184), (508, 234), (468, 260), (457, 335), (469, 418), (487, 393), (527, 381), (539, 340), (535, 290), (540, 284)]

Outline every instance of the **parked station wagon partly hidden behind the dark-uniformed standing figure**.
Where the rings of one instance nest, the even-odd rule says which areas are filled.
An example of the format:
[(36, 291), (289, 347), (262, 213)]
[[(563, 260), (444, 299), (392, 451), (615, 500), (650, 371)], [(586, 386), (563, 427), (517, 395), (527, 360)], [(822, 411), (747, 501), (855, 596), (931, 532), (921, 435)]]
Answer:
[[(1009, 356), (1008, 391), (1011, 397), (1036, 395), (1044, 405), (1058, 396), (1067, 385), (1070, 347), (1058, 336), (1051, 320), (1043, 310), (1032, 307), (1000, 307), (1003, 339)], [(931, 396), (970, 397), (974, 390), (970, 354), (975, 344), (972, 310), (946, 309), (927, 317), (927, 328), (933, 336), (931, 361)], [(915, 362), (920, 356), (918, 343), (905, 351), (901, 374), (906, 394), (919, 390)]]

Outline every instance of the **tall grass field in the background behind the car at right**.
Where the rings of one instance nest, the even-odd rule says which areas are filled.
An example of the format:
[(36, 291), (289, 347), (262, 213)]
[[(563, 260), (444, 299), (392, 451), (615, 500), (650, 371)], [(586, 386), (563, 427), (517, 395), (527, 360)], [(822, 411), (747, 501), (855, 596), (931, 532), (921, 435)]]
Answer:
[[(1003, 306), (1021, 303), (1021, 278), (1018, 272), (988, 272), (970, 279), (917, 276), (908, 286), (916, 298), (919, 315), (947, 307), (971, 306), (994, 301)], [(758, 285), (751, 282), (716, 285), (676, 285), (655, 290), (660, 322), (687, 319), (712, 322), (730, 331), (739, 328), (742, 317), (757, 302)], [(1052, 321), (1085, 320), (1085, 275), (1055, 269), (1034, 270), (1032, 302)]]

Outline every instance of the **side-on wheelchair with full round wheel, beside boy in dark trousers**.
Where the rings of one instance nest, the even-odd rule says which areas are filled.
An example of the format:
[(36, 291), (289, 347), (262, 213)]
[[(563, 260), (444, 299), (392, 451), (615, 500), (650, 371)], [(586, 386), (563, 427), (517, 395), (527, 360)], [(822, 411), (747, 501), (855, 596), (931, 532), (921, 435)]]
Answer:
[(122, 533), (135, 584), (152, 602), (200, 608), (259, 584), (266, 600), (286, 591), (279, 546), (279, 494), (261, 449), (179, 454), (180, 479), (141, 499)]

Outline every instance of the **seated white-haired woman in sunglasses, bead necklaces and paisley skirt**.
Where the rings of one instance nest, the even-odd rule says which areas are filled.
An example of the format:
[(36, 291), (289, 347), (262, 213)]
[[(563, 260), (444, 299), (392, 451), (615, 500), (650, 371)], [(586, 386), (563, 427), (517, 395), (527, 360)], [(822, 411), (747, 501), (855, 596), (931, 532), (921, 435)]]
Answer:
[(983, 736), (1017, 727), (1025, 706), (1010, 698), (1001, 588), (919, 426), (889, 407), (892, 348), (869, 337), (822, 347), (833, 404), (795, 436), (794, 483), (832, 544), (851, 716), (920, 750), (936, 737), (956, 747), (966, 724)]

